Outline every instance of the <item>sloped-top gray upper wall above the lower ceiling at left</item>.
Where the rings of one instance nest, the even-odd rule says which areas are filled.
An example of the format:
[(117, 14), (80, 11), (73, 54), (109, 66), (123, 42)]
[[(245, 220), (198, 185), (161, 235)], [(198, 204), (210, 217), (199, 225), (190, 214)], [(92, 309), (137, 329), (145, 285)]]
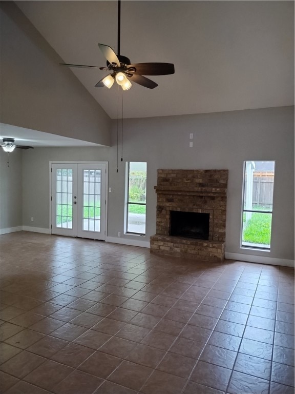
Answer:
[(110, 145), (111, 120), (13, 2), (1, 2), (1, 122)]

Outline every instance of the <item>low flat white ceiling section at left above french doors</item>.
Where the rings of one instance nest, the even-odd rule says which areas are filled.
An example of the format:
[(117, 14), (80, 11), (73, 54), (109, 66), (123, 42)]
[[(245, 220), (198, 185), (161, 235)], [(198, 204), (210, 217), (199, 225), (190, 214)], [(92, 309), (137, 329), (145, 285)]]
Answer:
[(44, 133), (43, 131), (26, 129), (0, 123), (0, 142), (5, 137), (14, 138), (16, 145), (33, 147), (56, 147), (56, 146), (102, 146), (92, 142), (75, 140), (57, 134)]

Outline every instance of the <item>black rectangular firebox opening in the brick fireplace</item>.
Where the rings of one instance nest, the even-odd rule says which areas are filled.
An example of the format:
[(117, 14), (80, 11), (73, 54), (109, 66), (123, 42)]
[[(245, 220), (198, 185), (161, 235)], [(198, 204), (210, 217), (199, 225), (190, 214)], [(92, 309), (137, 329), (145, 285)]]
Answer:
[(170, 211), (169, 235), (209, 239), (209, 213)]

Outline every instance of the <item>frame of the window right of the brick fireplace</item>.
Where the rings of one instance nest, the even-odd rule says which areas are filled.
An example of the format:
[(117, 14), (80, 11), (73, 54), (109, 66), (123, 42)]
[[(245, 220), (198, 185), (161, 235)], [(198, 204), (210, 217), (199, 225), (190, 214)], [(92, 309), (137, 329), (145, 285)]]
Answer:
[[(244, 209), (245, 206), (245, 186), (246, 186), (246, 164), (249, 162), (272, 162), (273, 163), (273, 185), (275, 184), (275, 173), (276, 173), (276, 161), (275, 160), (245, 160), (244, 165), (243, 165), (243, 188), (242, 188), (242, 214), (241, 214), (241, 231), (240, 231), (240, 248), (242, 249), (256, 249), (256, 250), (262, 250), (262, 251), (268, 251), (270, 252), (271, 248), (271, 229), (272, 229), (272, 213), (273, 213), (273, 191), (272, 191), (272, 206), (271, 210), (259, 210), (259, 209)], [(259, 246), (255, 246), (254, 243), (251, 243), (251, 245), (245, 245), (245, 242), (243, 241), (243, 217), (244, 213), (246, 212), (251, 212), (251, 213), (268, 213), (271, 215), (271, 225), (270, 225), (270, 242), (269, 242), (269, 247), (268, 246), (262, 246), (262, 244), (259, 244)], [(244, 243), (243, 243), (244, 242)], [(248, 242), (250, 244), (250, 242)]]

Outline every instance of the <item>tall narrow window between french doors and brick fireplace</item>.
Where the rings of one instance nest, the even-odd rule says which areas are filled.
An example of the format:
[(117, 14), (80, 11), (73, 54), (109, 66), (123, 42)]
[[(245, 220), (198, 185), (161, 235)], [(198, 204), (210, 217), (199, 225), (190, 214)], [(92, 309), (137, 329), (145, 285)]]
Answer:
[(146, 163), (127, 163), (126, 232), (145, 235)]

